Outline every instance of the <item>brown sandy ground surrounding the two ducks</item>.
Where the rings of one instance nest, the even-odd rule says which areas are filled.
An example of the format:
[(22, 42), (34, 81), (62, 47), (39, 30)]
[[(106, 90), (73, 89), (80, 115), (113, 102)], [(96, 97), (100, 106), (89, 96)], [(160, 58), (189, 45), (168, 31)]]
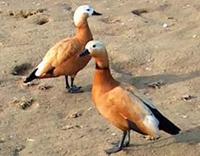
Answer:
[[(121, 137), (91, 102), (93, 61), (77, 76), (81, 94), (67, 93), (63, 77), (22, 83), (52, 45), (74, 34), (73, 12), (86, 3), (103, 13), (89, 24), (107, 45), (115, 78), (182, 128), (157, 141), (132, 133), (116, 155), (199, 156), (199, 0), (0, 0), (0, 155), (104, 156)], [(131, 13), (137, 9), (140, 16)]]

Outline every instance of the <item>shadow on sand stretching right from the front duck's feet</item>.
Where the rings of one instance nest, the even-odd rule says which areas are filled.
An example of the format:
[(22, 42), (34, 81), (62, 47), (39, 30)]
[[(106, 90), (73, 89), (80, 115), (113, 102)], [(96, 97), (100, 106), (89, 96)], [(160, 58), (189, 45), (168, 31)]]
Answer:
[(152, 141), (144, 144), (131, 144), (125, 151), (129, 152), (133, 150), (143, 150), (152, 149), (152, 148), (162, 148), (165, 146), (169, 146), (176, 143), (183, 143), (189, 145), (195, 145), (200, 143), (200, 126), (195, 128), (182, 131), (180, 134), (175, 136), (170, 136), (167, 138), (158, 139), (156, 141)]

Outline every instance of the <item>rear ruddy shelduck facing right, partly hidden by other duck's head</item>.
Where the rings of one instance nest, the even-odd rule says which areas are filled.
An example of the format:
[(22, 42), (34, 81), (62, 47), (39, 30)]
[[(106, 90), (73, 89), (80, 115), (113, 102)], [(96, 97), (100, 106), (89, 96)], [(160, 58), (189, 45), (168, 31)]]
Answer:
[[(93, 15), (101, 15), (89, 5), (78, 7), (74, 13), (74, 24), (76, 35), (66, 38), (55, 44), (45, 55), (41, 63), (25, 79), (25, 83), (34, 79), (65, 76), (66, 88), (70, 93), (81, 92), (81, 87), (74, 85), (74, 78), (83, 69), (91, 57), (80, 58), (79, 54), (84, 49), (86, 43), (92, 40), (87, 19)], [(68, 76), (71, 77), (71, 84), (68, 83)]]

